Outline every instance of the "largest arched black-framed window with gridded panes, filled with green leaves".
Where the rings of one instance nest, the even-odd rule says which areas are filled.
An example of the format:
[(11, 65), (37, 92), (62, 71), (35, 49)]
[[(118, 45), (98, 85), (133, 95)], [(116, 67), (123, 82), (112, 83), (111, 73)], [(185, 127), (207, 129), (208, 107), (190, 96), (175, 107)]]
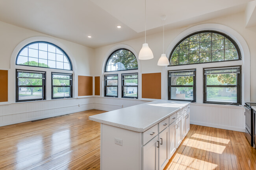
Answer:
[(170, 54), (169, 66), (241, 60), (234, 40), (217, 31), (199, 31), (176, 44)]

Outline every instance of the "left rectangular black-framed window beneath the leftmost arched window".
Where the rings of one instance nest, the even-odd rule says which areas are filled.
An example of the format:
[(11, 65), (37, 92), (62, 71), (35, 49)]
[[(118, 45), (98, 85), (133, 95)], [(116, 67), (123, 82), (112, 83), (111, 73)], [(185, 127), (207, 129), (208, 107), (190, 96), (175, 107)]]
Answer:
[(16, 102), (45, 100), (45, 72), (16, 70)]

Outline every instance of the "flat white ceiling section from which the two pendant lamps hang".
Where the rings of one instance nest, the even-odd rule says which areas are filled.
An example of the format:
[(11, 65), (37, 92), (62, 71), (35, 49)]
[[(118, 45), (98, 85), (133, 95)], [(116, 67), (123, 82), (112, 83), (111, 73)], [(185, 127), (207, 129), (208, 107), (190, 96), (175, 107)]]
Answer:
[[(145, 0), (91, 0), (102, 9), (121, 20), (137, 33), (145, 30)], [(165, 14), (165, 24), (172, 24), (206, 15), (215, 11), (223, 14), (230, 7), (247, 4), (252, 0), (147, 0), (147, 29), (163, 25), (160, 16)], [(234, 13), (234, 11), (233, 11)], [(218, 13), (218, 15), (222, 15)]]

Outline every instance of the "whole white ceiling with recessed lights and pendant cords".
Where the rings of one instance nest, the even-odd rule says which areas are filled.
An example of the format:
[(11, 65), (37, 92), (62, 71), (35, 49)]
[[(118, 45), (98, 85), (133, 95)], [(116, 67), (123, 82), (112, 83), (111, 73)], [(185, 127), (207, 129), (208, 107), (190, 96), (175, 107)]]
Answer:
[[(147, 0), (147, 34), (162, 31), (163, 14), (171, 29), (245, 11), (250, 1)], [(144, 8), (144, 0), (0, 0), (0, 21), (98, 48), (143, 37)]]

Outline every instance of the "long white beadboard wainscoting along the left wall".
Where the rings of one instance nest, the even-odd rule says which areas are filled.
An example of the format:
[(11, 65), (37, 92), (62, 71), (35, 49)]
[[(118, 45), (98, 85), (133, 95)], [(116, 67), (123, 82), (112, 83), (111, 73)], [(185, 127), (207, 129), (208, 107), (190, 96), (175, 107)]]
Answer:
[(81, 112), (93, 108), (93, 97), (4, 104), (0, 105), (0, 126)]

